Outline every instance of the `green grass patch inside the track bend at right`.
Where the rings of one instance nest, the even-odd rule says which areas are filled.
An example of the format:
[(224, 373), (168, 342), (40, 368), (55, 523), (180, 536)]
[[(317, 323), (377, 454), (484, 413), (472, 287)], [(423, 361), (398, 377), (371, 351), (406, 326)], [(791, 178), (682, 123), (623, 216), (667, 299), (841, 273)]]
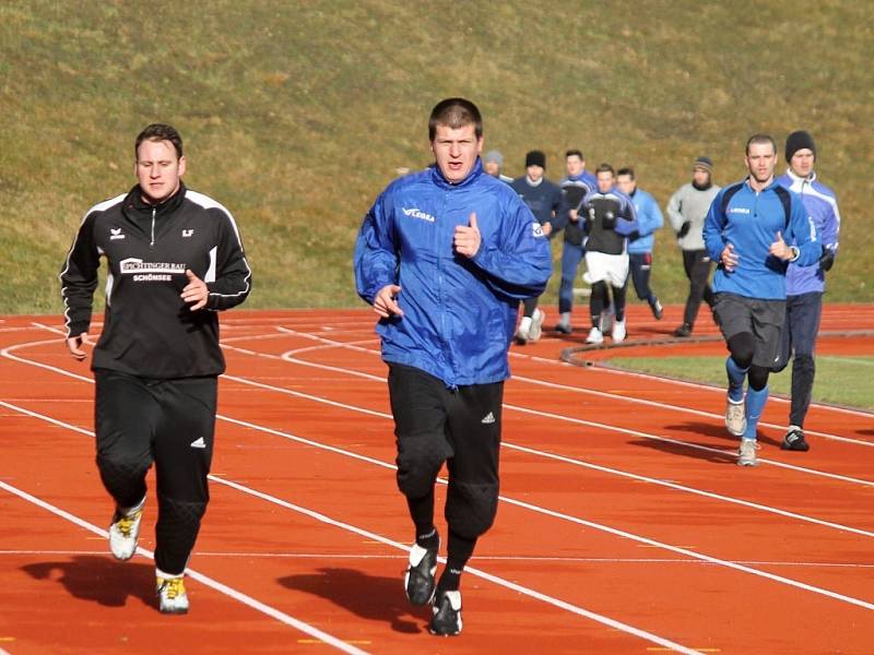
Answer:
[[(724, 357), (613, 357), (609, 362), (629, 371), (727, 384)], [(772, 393), (789, 395), (791, 385), (790, 368), (768, 379)], [(818, 355), (813, 400), (874, 409), (874, 357)]]

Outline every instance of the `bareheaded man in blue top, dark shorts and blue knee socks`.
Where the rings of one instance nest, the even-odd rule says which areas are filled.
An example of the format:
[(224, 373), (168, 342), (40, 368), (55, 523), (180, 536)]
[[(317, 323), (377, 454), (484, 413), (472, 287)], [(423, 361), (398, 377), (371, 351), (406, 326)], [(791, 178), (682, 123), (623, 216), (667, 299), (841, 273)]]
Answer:
[(768, 373), (779, 358), (786, 317), (787, 264), (810, 266), (822, 254), (801, 198), (773, 179), (776, 165), (773, 139), (751, 136), (749, 175), (720, 190), (704, 226), (705, 246), (718, 262), (713, 317), (730, 352), (725, 426), (742, 438), (741, 466), (756, 465), (756, 428), (768, 401)]

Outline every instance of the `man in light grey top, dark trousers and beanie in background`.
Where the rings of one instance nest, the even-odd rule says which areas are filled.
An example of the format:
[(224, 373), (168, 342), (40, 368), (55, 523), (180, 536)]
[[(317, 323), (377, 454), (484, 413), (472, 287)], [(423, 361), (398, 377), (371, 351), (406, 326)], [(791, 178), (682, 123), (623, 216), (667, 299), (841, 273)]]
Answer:
[(695, 159), (692, 181), (677, 189), (665, 207), (683, 251), (683, 269), (689, 281), (683, 324), (674, 331), (674, 336), (692, 335), (701, 299), (713, 307), (713, 291), (708, 283), (713, 263), (707, 254), (702, 236), (704, 219), (720, 189), (713, 184), (712, 174), (713, 162), (710, 157)]

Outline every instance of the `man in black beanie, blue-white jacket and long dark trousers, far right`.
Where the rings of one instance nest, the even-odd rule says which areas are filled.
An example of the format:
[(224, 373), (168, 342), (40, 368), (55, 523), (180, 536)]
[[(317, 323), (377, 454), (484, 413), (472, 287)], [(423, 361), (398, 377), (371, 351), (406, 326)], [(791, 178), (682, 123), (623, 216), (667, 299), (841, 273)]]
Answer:
[(826, 271), (831, 269), (838, 254), (840, 212), (835, 192), (822, 183), (814, 171), (816, 144), (807, 132), (792, 132), (786, 141), (786, 160), (789, 169), (777, 182), (801, 195), (804, 209), (816, 225), (823, 245), (823, 255), (817, 265), (789, 264), (786, 273), (786, 326), (782, 352), (775, 370), (786, 368), (792, 358), (792, 403), (789, 410), (789, 430), (780, 448), (807, 451), (804, 439), (804, 417), (811, 406), (811, 392), (815, 365), (813, 359), (816, 333), (823, 313), (823, 293)]

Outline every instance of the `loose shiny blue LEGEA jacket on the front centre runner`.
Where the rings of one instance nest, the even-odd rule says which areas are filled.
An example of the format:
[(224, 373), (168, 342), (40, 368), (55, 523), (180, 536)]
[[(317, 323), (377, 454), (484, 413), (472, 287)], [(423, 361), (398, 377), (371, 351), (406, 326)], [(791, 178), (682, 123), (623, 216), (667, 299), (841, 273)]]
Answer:
[[(469, 259), (452, 242), (472, 212), (482, 243)], [(543, 293), (552, 258), (531, 211), (477, 159), (457, 184), (436, 166), (391, 182), (364, 218), (354, 269), (367, 302), (386, 285), (401, 287), (403, 317), (377, 324), (382, 359), (454, 388), (509, 377), (519, 300)]]

